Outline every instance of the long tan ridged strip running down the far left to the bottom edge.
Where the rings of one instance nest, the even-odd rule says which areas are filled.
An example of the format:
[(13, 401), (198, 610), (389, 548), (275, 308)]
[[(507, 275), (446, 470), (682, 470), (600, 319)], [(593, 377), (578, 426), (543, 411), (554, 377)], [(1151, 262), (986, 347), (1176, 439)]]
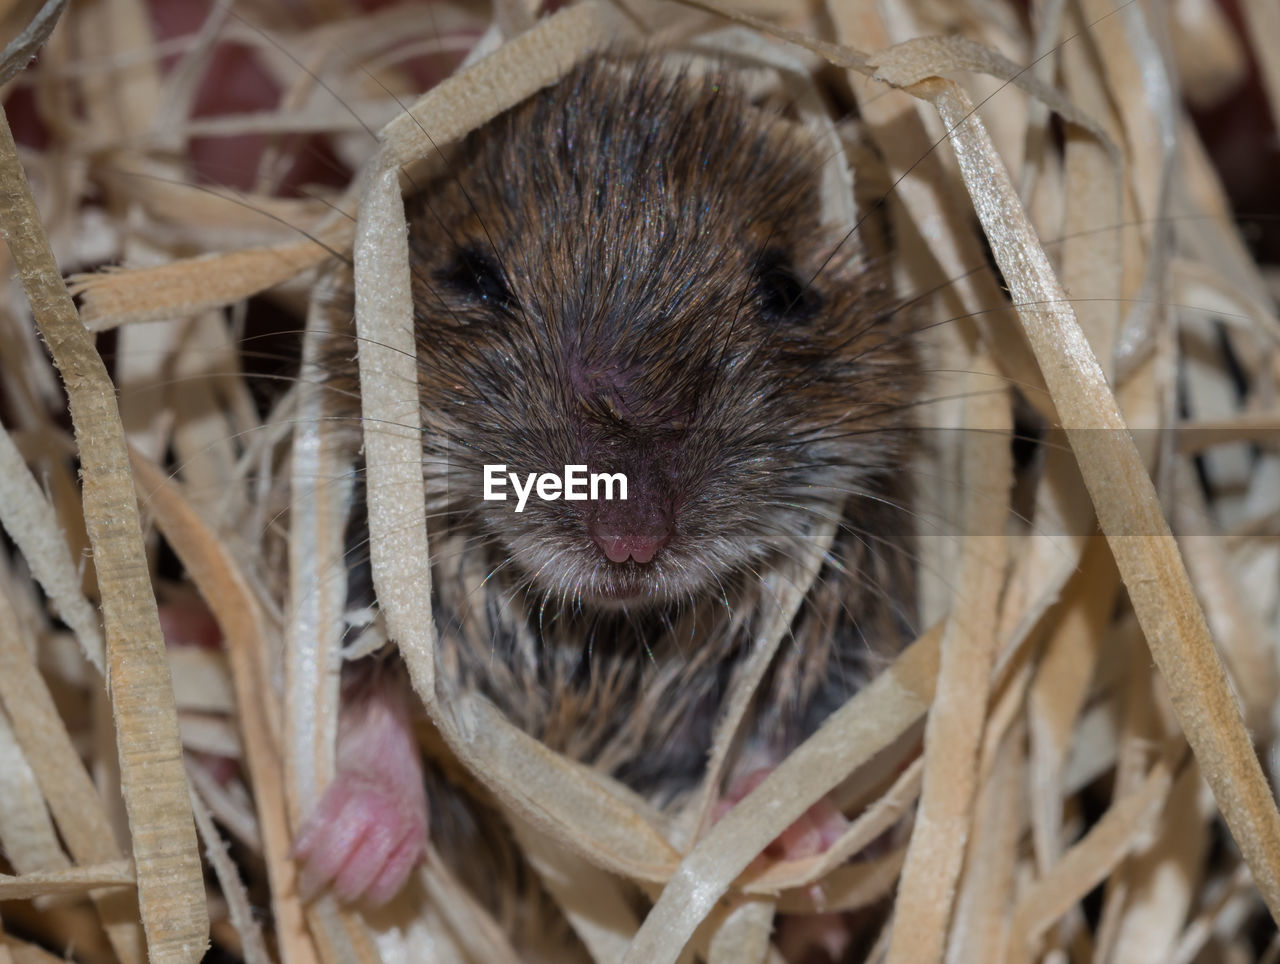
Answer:
[(147, 945), (156, 960), (196, 960), (209, 944), (204, 872), (124, 431), (106, 366), (49, 250), (8, 119), (0, 124), (0, 220), (67, 385), (81, 454)]

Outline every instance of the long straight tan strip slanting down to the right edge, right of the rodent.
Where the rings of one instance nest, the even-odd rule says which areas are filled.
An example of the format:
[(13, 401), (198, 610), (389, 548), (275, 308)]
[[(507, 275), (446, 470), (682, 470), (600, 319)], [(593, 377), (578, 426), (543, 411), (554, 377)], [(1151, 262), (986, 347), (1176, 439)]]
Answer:
[(969, 99), (937, 79), (916, 84), (915, 92), (934, 102), (951, 131), (965, 184), (1014, 301), (1023, 305), (1019, 316), (1179, 721), (1280, 920), (1280, 814), (1142, 457)]

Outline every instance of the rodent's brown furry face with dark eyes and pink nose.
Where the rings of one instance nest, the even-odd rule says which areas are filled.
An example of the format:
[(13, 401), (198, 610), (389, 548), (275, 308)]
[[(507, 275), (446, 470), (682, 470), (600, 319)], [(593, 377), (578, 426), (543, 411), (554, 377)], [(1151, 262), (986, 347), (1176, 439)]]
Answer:
[[(718, 594), (902, 458), (916, 366), (881, 275), (819, 224), (808, 138), (722, 81), (589, 65), (410, 201), (428, 476), (571, 604)], [(517, 513), (485, 465), (627, 499)]]

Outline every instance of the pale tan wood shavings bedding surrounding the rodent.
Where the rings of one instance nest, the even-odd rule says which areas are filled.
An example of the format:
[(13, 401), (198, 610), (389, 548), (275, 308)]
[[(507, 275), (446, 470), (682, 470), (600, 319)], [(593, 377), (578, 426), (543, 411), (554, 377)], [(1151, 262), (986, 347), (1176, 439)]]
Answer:
[[(1215, 0), (216, 0), (177, 32), (165, 1), (0, 5), (0, 964), (211, 937), (255, 963), (782, 964), (797, 918), (855, 909), (870, 960), (1276, 959), (1280, 288), (1180, 100), (1212, 115), (1248, 83), (1280, 118), (1272, 0), (1239, 23)], [(416, 463), (402, 195), (637, 41), (755, 64), (832, 155), (833, 223), (886, 198), (936, 369), (931, 629), (718, 821), (835, 527), (778, 574), (707, 775), (659, 812), (438, 664), (452, 547)], [(197, 110), (232, 51), (271, 97)], [(265, 146), (221, 183), (202, 151), (228, 143)], [(307, 151), (328, 170), (293, 178)], [(365, 644), (399, 648), (424, 751), (507, 822), (558, 946), (521, 946), (434, 851), (380, 910), (297, 892), (351, 655), (357, 479), (314, 355), (335, 261), (362, 339)], [(156, 600), (182, 593), (220, 641), (165, 647)], [(828, 795), (850, 823), (826, 853), (756, 859)]]

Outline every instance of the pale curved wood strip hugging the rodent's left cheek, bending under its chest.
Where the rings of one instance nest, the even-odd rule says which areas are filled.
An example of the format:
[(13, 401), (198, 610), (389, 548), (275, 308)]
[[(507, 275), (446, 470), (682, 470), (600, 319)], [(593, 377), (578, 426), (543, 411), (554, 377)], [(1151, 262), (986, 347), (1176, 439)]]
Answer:
[[(556, 832), (589, 859), (660, 878), (675, 853), (631, 808), (490, 705), (436, 693), (416, 347), (412, 325), (404, 324), (413, 311), (406, 233), (398, 170), (371, 169), (355, 247), (356, 329), (371, 563), (388, 635), (399, 645), (413, 687), (451, 749), (504, 807)], [(596, 850), (584, 844), (589, 830), (612, 846)]]

